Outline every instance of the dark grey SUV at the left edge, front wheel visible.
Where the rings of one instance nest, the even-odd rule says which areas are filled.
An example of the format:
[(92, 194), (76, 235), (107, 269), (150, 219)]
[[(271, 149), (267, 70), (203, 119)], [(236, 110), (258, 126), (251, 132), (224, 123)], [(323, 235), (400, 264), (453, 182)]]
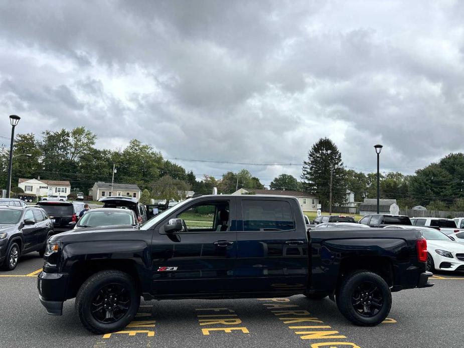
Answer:
[(0, 206), (0, 265), (11, 271), (21, 255), (38, 251), (44, 256), (45, 242), (53, 234), (52, 221), (43, 209)]

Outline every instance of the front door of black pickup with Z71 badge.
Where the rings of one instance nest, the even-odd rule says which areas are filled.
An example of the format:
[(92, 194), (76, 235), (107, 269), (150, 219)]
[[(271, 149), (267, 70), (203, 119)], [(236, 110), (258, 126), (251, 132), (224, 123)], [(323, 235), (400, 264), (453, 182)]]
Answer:
[[(231, 228), (234, 202), (213, 200), (190, 205), (166, 219), (167, 223), (169, 219), (184, 218), (187, 231), (165, 233), (161, 227), (154, 232), (151, 258), (155, 296), (207, 296), (231, 291), (237, 251), (236, 231)], [(193, 208), (197, 206), (201, 208), (195, 213)], [(221, 221), (226, 210), (228, 219)]]

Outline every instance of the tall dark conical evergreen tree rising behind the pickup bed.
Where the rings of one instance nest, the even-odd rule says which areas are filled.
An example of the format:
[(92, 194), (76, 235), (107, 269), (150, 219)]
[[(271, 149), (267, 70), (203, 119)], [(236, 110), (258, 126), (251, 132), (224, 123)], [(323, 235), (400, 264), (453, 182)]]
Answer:
[(342, 155), (329, 138), (319, 139), (303, 162), (301, 179), (305, 191), (318, 196), (324, 207), (329, 206), (332, 172), (332, 204), (345, 201), (346, 182)]

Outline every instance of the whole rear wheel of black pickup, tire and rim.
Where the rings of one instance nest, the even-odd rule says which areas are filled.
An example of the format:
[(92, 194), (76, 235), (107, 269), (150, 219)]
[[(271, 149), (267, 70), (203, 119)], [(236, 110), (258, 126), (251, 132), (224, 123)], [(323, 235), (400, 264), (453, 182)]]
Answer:
[(359, 326), (380, 324), (390, 313), (391, 302), (388, 284), (381, 276), (369, 271), (348, 275), (337, 298), (340, 312)]

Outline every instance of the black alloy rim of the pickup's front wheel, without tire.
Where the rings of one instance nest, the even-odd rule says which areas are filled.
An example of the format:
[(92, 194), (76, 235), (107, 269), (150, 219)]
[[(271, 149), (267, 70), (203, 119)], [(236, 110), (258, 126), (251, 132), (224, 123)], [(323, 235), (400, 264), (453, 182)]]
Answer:
[(108, 284), (102, 287), (92, 299), (92, 316), (98, 322), (108, 324), (122, 318), (130, 307), (128, 289), (121, 284)]

